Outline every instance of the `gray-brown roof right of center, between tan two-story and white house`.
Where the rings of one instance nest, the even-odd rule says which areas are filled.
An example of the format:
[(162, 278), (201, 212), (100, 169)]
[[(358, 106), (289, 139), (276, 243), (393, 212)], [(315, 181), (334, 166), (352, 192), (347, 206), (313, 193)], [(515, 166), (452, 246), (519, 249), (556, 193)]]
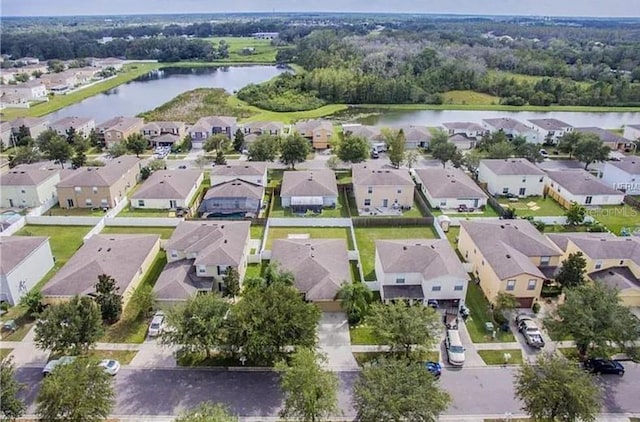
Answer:
[(487, 198), (487, 195), (462, 170), (432, 167), (416, 169), (416, 176), (432, 198)]

